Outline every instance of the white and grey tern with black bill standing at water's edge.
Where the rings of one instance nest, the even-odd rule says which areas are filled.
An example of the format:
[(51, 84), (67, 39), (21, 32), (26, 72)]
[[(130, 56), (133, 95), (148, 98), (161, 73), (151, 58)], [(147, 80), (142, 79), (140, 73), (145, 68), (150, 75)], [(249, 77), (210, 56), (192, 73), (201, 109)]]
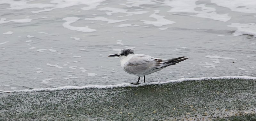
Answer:
[(145, 75), (160, 71), (170, 65), (175, 65), (188, 59), (185, 56), (172, 59), (160, 59), (149, 55), (135, 54), (132, 49), (123, 49), (117, 54), (109, 55), (108, 57), (119, 57), (122, 69), (129, 74), (139, 77), (137, 83), (131, 83), (135, 85), (139, 84), (140, 77), (144, 77), (143, 81), (145, 83)]

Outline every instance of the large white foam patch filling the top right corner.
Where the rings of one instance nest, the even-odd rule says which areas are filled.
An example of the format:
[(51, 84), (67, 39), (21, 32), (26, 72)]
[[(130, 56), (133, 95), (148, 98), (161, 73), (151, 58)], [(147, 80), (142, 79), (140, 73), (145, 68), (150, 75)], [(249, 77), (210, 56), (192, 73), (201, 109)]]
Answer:
[(211, 0), (212, 3), (218, 6), (231, 9), (231, 11), (256, 13), (255, 0)]

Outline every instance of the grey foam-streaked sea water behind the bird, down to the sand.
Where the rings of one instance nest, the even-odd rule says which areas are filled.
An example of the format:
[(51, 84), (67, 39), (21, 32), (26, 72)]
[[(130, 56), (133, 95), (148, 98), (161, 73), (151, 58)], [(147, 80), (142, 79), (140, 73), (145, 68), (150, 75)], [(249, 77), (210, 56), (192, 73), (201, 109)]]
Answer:
[(0, 10), (0, 93), (132, 86), (137, 76), (108, 57), (124, 48), (189, 57), (142, 85), (256, 77), (254, 0), (0, 0)]

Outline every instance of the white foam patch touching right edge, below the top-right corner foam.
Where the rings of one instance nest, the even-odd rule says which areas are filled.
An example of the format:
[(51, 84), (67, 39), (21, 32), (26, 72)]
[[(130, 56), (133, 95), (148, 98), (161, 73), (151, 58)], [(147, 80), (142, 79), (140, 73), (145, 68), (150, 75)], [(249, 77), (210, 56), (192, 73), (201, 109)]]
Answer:
[(246, 35), (253, 35), (256, 37), (256, 24), (249, 23), (249, 24), (240, 24), (240, 23), (232, 23), (228, 25), (228, 27), (235, 27), (237, 30), (232, 34), (234, 36), (240, 36), (243, 34)]

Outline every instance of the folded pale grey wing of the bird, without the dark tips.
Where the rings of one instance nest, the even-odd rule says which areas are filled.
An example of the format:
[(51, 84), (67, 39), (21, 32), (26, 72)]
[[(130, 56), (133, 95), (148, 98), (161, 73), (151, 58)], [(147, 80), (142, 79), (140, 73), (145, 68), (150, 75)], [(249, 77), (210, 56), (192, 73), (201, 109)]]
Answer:
[(147, 75), (149, 71), (161, 67), (162, 59), (134, 56), (124, 66), (124, 71), (135, 75)]

